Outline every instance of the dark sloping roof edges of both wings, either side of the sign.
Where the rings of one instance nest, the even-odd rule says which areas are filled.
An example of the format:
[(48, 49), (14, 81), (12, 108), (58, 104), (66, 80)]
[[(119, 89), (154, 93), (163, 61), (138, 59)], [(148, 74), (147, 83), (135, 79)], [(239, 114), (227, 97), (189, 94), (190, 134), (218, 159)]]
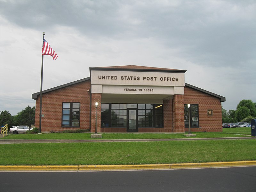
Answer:
[[(67, 86), (70, 86), (70, 85), (74, 85), (74, 84), (77, 84), (77, 83), (81, 83), (81, 82), (84, 82), (84, 81), (87, 81), (87, 80), (90, 80), (90, 79), (91, 79), (91, 77), (86, 77), (86, 78), (84, 78), (84, 79), (80, 79), (80, 80), (73, 81), (73, 82), (70, 82), (70, 83), (67, 83), (67, 84), (63, 84), (63, 85), (60, 85), (60, 86), (57, 86), (57, 87), (53, 87), (53, 88), (51, 88), (51, 89), (44, 90), (44, 91), (42, 91), (42, 93), (47, 93), (47, 92), (55, 91), (55, 90), (57, 90), (57, 89), (61, 89), (61, 88), (64, 88), (64, 87), (67, 87)], [(212, 95), (212, 96), (214, 96), (214, 97), (220, 98), (220, 102), (226, 101), (226, 98), (225, 98), (225, 97), (222, 97), (222, 96), (220, 96), (220, 95), (217, 95), (217, 94), (212, 93), (212, 92), (209, 92), (209, 91), (206, 91), (206, 90), (201, 89), (201, 88), (199, 88), (199, 87), (195, 87), (195, 86), (190, 85), (190, 84), (187, 84), (187, 83), (185, 83), (185, 86), (190, 87), (190, 88), (192, 88), (192, 89), (195, 89), (195, 90), (197, 90), (197, 91), (204, 92), (204, 93), (206, 93), (206, 94)], [(38, 97), (38, 95), (40, 95), (40, 92), (33, 93), (33, 94), (32, 94), (32, 99), (36, 100), (37, 97)]]

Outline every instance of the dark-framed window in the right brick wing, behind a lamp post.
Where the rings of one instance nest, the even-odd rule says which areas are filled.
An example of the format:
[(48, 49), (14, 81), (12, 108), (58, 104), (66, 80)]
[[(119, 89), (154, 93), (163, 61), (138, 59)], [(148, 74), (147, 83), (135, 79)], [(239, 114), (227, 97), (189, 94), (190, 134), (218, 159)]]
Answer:
[[(188, 111), (190, 111), (190, 119), (188, 119)], [(198, 118), (198, 104), (190, 104), (190, 110), (188, 110), (188, 104), (184, 105), (184, 120), (185, 127), (189, 126), (188, 121), (190, 120), (190, 127), (199, 127)]]

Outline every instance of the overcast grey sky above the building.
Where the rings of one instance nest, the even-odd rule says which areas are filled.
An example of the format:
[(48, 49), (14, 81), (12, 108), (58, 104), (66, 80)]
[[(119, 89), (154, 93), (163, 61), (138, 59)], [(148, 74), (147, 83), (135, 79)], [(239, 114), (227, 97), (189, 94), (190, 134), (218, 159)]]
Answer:
[(0, 0), (0, 110), (35, 106), (43, 90), (89, 77), (89, 67), (187, 70), (185, 82), (256, 102), (255, 0)]

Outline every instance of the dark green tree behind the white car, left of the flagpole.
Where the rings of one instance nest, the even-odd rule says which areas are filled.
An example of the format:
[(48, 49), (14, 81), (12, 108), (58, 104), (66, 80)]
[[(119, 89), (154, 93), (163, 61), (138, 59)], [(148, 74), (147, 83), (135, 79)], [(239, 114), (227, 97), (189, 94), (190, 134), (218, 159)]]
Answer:
[(28, 106), (14, 116), (14, 122), (17, 125), (27, 125), (31, 127), (31, 125), (35, 124), (35, 113), (36, 108)]

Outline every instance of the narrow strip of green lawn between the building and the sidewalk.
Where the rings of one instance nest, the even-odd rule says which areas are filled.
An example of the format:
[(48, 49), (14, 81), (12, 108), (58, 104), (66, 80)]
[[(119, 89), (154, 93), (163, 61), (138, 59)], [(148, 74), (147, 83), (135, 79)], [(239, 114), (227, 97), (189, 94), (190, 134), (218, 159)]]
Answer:
[[(238, 134), (238, 135), (235, 135)], [(241, 135), (239, 135), (241, 134)], [(196, 132), (195, 138), (212, 137), (244, 137), (242, 134), (251, 135), (250, 127), (223, 128), (223, 132)], [(164, 133), (102, 133), (102, 139), (172, 139), (186, 138), (183, 133), (164, 134)], [(2, 139), (67, 139), (83, 140), (91, 139), (91, 133), (47, 133), (47, 134), (17, 134), (8, 135)]]

